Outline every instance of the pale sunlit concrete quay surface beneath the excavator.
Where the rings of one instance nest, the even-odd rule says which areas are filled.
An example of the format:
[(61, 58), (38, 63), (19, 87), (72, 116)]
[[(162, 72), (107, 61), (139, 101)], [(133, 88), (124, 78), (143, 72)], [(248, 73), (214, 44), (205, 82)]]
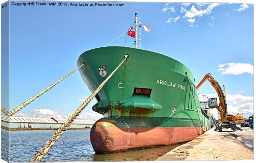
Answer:
[(199, 160), (253, 160), (254, 132), (249, 127), (244, 131), (215, 127), (203, 135), (172, 149), (155, 161), (199, 161)]

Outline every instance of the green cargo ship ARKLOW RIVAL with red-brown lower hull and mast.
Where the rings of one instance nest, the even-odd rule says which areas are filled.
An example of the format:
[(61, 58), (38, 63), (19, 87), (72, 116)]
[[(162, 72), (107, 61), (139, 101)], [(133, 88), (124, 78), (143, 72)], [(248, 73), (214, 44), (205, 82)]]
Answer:
[[(135, 18), (139, 43), (141, 25)], [(104, 115), (90, 131), (97, 154), (186, 142), (210, 128), (211, 118), (200, 108), (192, 72), (138, 44), (100, 47), (80, 55), (77, 65), (85, 63), (79, 71), (91, 92), (124, 57), (128, 58), (95, 96), (92, 110)]]

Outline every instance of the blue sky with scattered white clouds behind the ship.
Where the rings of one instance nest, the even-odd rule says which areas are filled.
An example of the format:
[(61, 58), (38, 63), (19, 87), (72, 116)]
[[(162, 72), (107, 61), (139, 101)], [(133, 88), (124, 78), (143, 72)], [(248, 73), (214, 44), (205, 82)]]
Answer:
[[(165, 55), (185, 64), (194, 73), (196, 83), (210, 72), (220, 85), (225, 85), (229, 112), (243, 111), (246, 116), (253, 113), (252, 4), (119, 4), (125, 7), (11, 5), (10, 108), (75, 69), (84, 51), (104, 46), (125, 32), (133, 25), (137, 12), (142, 23), (151, 28), (147, 36)], [(122, 46), (124, 40), (125, 35), (109, 46)], [(133, 41), (130, 37), (126, 46), (133, 47)], [(161, 53), (143, 33), (141, 47)], [(210, 83), (199, 89), (199, 94), (215, 93)], [(17, 116), (66, 118), (89, 95), (77, 71)], [(81, 118), (99, 117), (91, 110), (95, 103), (91, 101)]]

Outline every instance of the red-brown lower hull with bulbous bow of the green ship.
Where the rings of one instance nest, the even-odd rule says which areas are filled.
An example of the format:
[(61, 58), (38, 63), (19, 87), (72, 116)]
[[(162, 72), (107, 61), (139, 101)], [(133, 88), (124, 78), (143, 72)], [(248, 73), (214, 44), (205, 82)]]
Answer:
[(100, 154), (173, 145), (201, 134), (201, 127), (116, 127), (110, 122), (96, 122), (90, 140), (94, 151)]

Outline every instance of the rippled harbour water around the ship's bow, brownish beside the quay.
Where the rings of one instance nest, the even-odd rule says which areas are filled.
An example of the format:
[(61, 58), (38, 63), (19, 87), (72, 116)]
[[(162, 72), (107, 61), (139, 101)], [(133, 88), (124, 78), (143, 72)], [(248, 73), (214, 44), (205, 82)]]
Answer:
[[(5, 139), (8, 138), (8, 131), (1, 129), (1, 133), (1, 147), (8, 152), (8, 142)], [(53, 130), (10, 131), (10, 162), (28, 162), (53, 133)], [(114, 154), (95, 154), (90, 143), (90, 130), (67, 130), (43, 157), (42, 162), (153, 161), (178, 145)], [(2, 157), (7, 158), (6, 155)]]

